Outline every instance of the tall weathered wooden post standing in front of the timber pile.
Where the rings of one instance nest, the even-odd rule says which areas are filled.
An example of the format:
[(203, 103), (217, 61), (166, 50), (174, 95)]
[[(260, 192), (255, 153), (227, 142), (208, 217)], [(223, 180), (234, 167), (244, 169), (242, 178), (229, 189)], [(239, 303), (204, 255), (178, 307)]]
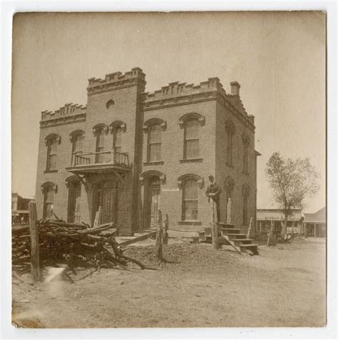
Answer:
[(39, 230), (36, 227), (36, 202), (29, 202), (29, 232), (31, 234), (31, 278), (40, 281)]

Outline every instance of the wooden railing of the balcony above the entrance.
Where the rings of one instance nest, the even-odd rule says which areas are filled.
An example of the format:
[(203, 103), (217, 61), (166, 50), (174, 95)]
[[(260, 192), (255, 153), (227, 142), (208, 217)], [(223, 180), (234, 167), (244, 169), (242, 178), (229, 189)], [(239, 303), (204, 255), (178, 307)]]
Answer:
[(83, 167), (93, 164), (113, 164), (129, 167), (128, 153), (118, 153), (117, 151), (102, 151), (100, 153), (74, 153), (72, 167)]

